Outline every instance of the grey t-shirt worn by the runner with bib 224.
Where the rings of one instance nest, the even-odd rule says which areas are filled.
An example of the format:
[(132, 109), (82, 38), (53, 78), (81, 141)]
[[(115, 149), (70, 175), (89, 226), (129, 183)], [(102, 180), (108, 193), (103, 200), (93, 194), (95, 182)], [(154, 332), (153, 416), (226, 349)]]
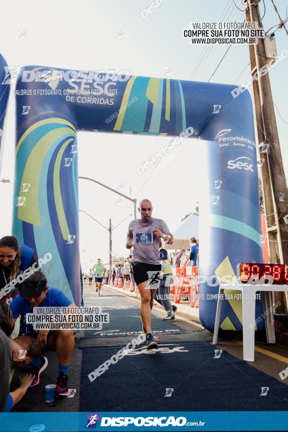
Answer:
[[(162, 219), (153, 217), (149, 222), (144, 222), (142, 219), (131, 220), (127, 236), (133, 238), (132, 261), (147, 264), (160, 264), (160, 239), (157, 236), (152, 234), (153, 243), (144, 243), (145, 240), (143, 240), (143, 243), (136, 242), (136, 238), (138, 242), (142, 242), (142, 238), (145, 238), (145, 236), (141, 236), (141, 234), (152, 233), (154, 228), (160, 229), (163, 234), (172, 235)], [(138, 235), (136, 236), (136, 234)]]

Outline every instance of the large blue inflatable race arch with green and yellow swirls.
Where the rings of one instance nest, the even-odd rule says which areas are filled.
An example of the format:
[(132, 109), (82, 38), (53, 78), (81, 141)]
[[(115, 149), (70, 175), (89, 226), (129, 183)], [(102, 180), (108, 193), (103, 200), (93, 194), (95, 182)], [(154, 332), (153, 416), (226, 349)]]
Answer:
[[(125, 71), (116, 76), (111, 71), (21, 69), (13, 233), (38, 257), (52, 253), (45, 266), (51, 286), (80, 304), (78, 130), (186, 132), (184, 138), (197, 138), (191, 145), (205, 154), (203, 175), (195, 184), (201, 185), (199, 274), (232, 275), (239, 262), (262, 262), (252, 103), (248, 91), (234, 98), (233, 89), (127, 76)], [(209, 285), (201, 284), (202, 295), (218, 292)], [(257, 300), (256, 305), (258, 316), (262, 304)], [(241, 330), (240, 306), (239, 300), (225, 301), (222, 329)], [(216, 299), (200, 299), (206, 328), (213, 329), (215, 311)]]

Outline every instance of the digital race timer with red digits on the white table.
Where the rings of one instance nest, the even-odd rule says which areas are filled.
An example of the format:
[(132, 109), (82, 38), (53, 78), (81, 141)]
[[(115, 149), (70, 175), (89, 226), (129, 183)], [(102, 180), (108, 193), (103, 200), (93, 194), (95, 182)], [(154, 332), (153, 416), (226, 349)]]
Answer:
[(260, 283), (288, 285), (288, 264), (241, 263), (237, 271), (242, 283), (247, 283), (252, 277), (259, 279)]

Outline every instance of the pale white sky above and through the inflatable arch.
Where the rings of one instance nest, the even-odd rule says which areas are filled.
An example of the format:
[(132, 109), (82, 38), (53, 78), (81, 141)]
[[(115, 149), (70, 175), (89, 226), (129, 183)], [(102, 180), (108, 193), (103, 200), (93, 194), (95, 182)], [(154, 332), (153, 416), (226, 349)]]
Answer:
[[(209, 81), (228, 46), (191, 46), (182, 38), (182, 28), (188, 27), (190, 21), (218, 21), (220, 17), (221, 21), (243, 21), (244, 12), (236, 8), (233, 0), (166, 0), (143, 19), (140, 12), (149, 4), (150, 0), (51, 0), (44, 12), (38, 1), (6, 2), (2, 9), (9, 19), (2, 20), (0, 27), (1, 54), (8, 65), (21, 67), (33, 64), (76, 70), (113, 69), (117, 72), (125, 69), (132, 75)], [(240, 0), (236, 0), (236, 4), (243, 9)], [(285, 19), (284, 2), (275, 0), (275, 4)], [(262, 23), (268, 30), (279, 23), (279, 18), (270, 0), (265, 0), (265, 7)], [(260, 10), (263, 15), (263, 0)], [(26, 36), (19, 38), (23, 29)], [(117, 37), (117, 31), (122, 37)], [(277, 54), (281, 54), (288, 48), (288, 36), (282, 29), (276, 31), (275, 37)], [(204, 61), (199, 62), (203, 54)], [(241, 84), (250, 76), (248, 62), (248, 47), (232, 46), (210, 82)], [(167, 70), (172, 70), (171, 75), (166, 75)], [(279, 62), (269, 76), (273, 100), (283, 118), (276, 111), (287, 176), (288, 59)], [(11, 94), (0, 174), (2, 179), (10, 179), (11, 183), (0, 183), (1, 199), (5, 203), (0, 214), (0, 237), (11, 234), (14, 117), (15, 101)], [(164, 219), (173, 232), (181, 224), (183, 216), (195, 211), (201, 198), (201, 185), (197, 181), (191, 182), (192, 171), (197, 179), (205, 170), (199, 161), (199, 141), (185, 140), (173, 155), (162, 158), (142, 175), (136, 171), (170, 139), (79, 132), (79, 176), (94, 178), (113, 189), (118, 189), (119, 183), (125, 184), (122, 192), (136, 198), (137, 202), (149, 198), (154, 216)], [(79, 209), (105, 227), (108, 227), (110, 217), (113, 227), (120, 224), (113, 230), (112, 252), (125, 257), (125, 240), (128, 223), (133, 218), (133, 204), (124, 199), (121, 205), (116, 205), (115, 196), (114, 192), (95, 183), (79, 180)], [(83, 212), (80, 212), (79, 221), (80, 250), (85, 250), (81, 252), (81, 264), (84, 268), (90, 267), (98, 257), (107, 262), (108, 231)]]

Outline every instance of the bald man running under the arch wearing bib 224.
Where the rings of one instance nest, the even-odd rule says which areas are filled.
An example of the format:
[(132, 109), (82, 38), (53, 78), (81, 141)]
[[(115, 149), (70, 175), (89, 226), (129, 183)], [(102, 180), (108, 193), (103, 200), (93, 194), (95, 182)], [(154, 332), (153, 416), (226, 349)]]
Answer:
[(155, 292), (160, 281), (160, 239), (173, 243), (173, 236), (162, 219), (152, 217), (152, 203), (149, 199), (140, 201), (140, 219), (132, 220), (128, 227), (126, 247), (133, 246), (131, 267), (141, 296), (140, 314), (143, 331), (146, 333), (147, 350), (157, 347), (152, 336), (151, 310)]

